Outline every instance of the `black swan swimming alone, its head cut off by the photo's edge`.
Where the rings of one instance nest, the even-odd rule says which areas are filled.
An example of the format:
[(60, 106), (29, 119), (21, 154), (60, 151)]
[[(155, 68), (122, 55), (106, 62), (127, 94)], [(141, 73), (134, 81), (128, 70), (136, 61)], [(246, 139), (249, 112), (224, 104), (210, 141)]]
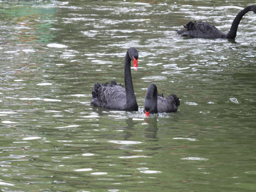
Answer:
[(224, 34), (216, 27), (210, 25), (209, 23), (205, 23), (202, 21), (199, 21), (199, 22), (195, 21), (194, 23), (189, 21), (184, 26), (186, 29), (176, 30), (176, 31), (181, 36), (188, 36), (188, 37), (192, 37), (192, 38), (234, 39), (234, 38), (236, 38), (236, 32), (237, 32), (239, 22), (241, 21), (244, 14), (249, 11), (253, 11), (254, 13), (256, 13), (256, 5), (247, 6), (244, 8), (244, 10), (242, 10), (241, 12), (239, 12), (236, 15), (236, 18), (234, 19), (228, 34)]

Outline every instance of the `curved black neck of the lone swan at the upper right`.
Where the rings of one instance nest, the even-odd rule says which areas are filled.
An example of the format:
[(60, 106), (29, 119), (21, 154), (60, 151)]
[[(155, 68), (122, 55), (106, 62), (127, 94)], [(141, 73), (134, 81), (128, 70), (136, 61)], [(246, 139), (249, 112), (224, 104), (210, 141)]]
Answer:
[(229, 39), (234, 39), (236, 38), (236, 32), (237, 32), (237, 28), (238, 28), (238, 25), (241, 21), (241, 19), (243, 18), (244, 14), (249, 12), (249, 11), (252, 11), (252, 7), (254, 7), (254, 5), (252, 6), (247, 6), (244, 8), (244, 10), (242, 10), (241, 12), (239, 12), (237, 15), (236, 15), (236, 18), (234, 19), (231, 27), (230, 27), (230, 30), (227, 34), (227, 38)]

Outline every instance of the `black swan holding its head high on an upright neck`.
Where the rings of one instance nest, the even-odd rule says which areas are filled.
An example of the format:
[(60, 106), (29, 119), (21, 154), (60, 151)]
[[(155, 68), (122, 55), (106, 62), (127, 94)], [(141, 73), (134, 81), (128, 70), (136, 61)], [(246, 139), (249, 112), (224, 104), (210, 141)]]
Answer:
[(134, 95), (131, 74), (131, 61), (133, 61), (134, 69), (137, 70), (138, 58), (139, 53), (137, 49), (133, 47), (128, 49), (124, 60), (125, 89), (121, 84), (117, 84), (115, 81), (111, 81), (110, 84), (95, 83), (92, 88), (91, 104), (96, 107), (106, 109), (138, 111), (138, 104)]

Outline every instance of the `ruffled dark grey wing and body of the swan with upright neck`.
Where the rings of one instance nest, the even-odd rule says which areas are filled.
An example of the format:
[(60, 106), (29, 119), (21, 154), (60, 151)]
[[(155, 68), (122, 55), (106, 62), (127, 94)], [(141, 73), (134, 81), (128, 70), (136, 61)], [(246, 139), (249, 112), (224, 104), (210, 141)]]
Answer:
[(125, 103), (125, 89), (121, 84), (116, 84), (114, 81), (111, 84), (94, 84), (92, 88), (92, 105), (106, 109), (124, 110)]

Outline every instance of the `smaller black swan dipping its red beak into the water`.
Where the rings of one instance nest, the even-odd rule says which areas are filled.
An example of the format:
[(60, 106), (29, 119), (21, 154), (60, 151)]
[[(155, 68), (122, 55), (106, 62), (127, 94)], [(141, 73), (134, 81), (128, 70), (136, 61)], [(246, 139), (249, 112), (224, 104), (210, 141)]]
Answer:
[(164, 97), (163, 94), (157, 93), (157, 87), (154, 83), (148, 86), (144, 101), (146, 116), (154, 113), (176, 112), (179, 105), (180, 100), (177, 95), (171, 94), (168, 97)]

